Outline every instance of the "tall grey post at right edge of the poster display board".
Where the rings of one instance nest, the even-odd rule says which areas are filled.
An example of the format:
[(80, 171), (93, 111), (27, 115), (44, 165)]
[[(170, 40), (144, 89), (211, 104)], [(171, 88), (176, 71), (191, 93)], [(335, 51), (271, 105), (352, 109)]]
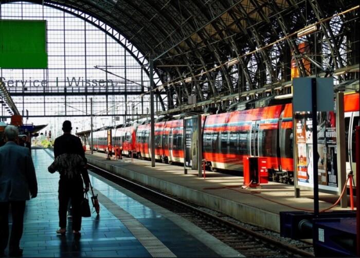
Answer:
[[(346, 153), (345, 153), (345, 124), (344, 118), (344, 93), (336, 93), (336, 139), (337, 139), (337, 176), (338, 176), (338, 194), (341, 195), (344, 183), (346, 181)], [(346, 186), (345, 186), (346, 188)], [(344, 194), (340, 200), (341, 208), (348, 207), (348, 197)]]

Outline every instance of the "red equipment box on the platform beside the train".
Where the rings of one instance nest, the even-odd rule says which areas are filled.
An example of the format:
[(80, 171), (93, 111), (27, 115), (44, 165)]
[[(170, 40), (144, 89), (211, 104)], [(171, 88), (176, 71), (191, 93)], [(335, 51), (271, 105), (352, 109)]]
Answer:
[(244, 185), (258, 187), (260, 183), (268, 183), (267, 159), (244, 157)]

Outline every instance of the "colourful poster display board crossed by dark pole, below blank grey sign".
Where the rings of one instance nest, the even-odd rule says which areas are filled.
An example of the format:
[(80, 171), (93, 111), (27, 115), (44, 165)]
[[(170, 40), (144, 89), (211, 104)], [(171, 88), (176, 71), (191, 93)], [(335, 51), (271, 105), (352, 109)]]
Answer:
[[(317, 113), (317, 165), (319, 189), (337, 191), (337, 150), (334, 112)], [(313, 123), (310, 113), (296, 114), (298, 185), (313, 187)]]

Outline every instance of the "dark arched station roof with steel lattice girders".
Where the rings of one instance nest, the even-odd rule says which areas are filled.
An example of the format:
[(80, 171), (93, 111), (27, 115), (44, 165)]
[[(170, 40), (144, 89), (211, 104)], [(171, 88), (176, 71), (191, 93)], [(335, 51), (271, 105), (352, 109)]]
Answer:
[[(0, 0), (0, 3), (14, 2)], [(305, 76), (296, 35), (317, 23), (318, 32), (304, 37), (311, 49), (325, 55), (327, 65), (314, 54), (318, 72), (358, 65), (358, 10), (326, 20), (358, 5), (356, 0), (43, 0), (29, 1), (52, 6), (97, 23), (127, 47), (142, 65), (149, 57), (168, 92), (169, 108), (190, 95), (198, 101), (219, 94), (261, 88), (290, 80), (292, 54), (300, 76)], [(324, 21), (324, 22), (322, 22)], [(349, 21), (355, 21), (353, 23)], [(270, 43), (282, 39), (272, 47)], [(357, 40), (356, 40), (357, 39)], [(353, 56), (344, 54), (350, 42)], [(314, 44), (316, 42), (316, 44)], [(321, 51), (319, 51), (321, 49)], [(314, 50), (310, 50), (314, 53)], [(253, 53), (253, 54), (248, 54)], [(316, 52), (317, 53), (317, 52)], [(238, 58), (236, 65), (221, 65)], [(215, 66), (219, 69), (213, 69)], [(146, 68), (148, 69), (148, 68)], [(316, 68), (315, 68), (316, 69)], [(196, 79), (195, 79), (196, 76)], [(191, 83), (186, 78), (194, 78)], [(345, 81), (349, 75), (339, 76)], [(351, 76), (350, 76), (351, 77)], [(178, 85), (167, 82), (177, 81)], [(164, 89), (163, 89), (164, 88)]]

